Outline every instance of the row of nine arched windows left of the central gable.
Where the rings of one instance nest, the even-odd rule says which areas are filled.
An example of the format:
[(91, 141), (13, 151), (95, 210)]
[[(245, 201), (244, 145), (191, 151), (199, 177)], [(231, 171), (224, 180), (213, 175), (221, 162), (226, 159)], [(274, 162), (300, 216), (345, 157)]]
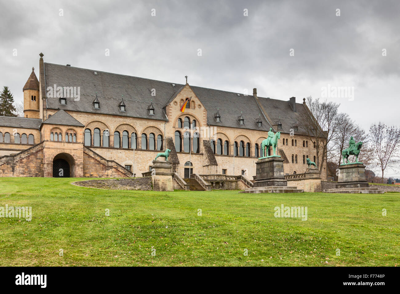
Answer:
[[(102, 141), (102, 142), (101, 142)], [(147, 134), (142, 134), (142, 145), (141, 148), (143, 150), (163, 150), (162, 146), (162, 135), (156, 137), (154, 133), (150, 133), (147, 138)], [(103, 136), (100, 136), (100, 129), (95, 128), (93, 130), (93, 140), (92, 140), (92, 132), (90, 129), (85, 129), (84, 132), (84, 145), (85, 146), (94, 146), (94, 147), (110, 147), (110, 136), (108, 130), (103, 131)], [(135, 132), (130, 134), (128, 131), (123, 131), (122, 136), (120, 132), (114, 132), (114, 148), (138, 148), (138, 136)]]

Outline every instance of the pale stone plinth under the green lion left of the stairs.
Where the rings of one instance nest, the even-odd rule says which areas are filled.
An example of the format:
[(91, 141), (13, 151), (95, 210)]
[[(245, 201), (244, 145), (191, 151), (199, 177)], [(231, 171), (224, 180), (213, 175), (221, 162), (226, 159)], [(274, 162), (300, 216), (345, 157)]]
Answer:
[(174, 191), (171, 162), (153, 160), (151, 178), (154, 191)]

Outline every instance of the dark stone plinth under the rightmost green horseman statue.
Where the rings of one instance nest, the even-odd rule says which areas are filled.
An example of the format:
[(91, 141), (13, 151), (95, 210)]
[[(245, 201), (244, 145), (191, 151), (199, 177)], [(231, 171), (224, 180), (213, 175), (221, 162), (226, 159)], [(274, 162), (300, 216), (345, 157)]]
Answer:
[(364, 164), (354, 163), (340, 165), (336, 188), (368, 188)]

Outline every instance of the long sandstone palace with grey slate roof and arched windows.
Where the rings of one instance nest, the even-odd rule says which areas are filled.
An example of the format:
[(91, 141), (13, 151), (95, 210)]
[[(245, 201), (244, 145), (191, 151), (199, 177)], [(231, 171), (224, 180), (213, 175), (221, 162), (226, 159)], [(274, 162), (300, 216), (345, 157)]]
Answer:
[(276, 100), (259, 97), (255, 88), (244, 95), (45, 63), (42, 53), (22, 90), (24, 117), (0, 116), (0, 176), (142, 176), (168, 148), (181, 178), (252, 179), (270, 128), (281, 132), (285, 174), (304, 173), (307, 157), (316, 162), (314, 142), (301, 132), (300, 114), (308, 108), (295, 97)]

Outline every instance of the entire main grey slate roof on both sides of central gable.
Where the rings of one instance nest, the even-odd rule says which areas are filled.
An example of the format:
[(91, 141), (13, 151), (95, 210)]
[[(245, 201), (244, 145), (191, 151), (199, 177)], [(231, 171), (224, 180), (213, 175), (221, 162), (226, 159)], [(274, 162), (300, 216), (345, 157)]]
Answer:
[[(80, 87), (80, 99), (67, 98), (66, 105), (60, 104), (59, 98), (48, 97), (47, 108), (63, 109), (100, 114), (129, 116), (136, 118), (149, 118), (166, 120), (163, 108), (168, 105), (184, 88), (183, 84), (162, 82), (122, 74), (100, 72), (72, 66), (45, 63), (46, 87), (56, 84), (57, 87)], [(173, 86), (175, 85), (175, 86)], [(262, 98), (258, 100), (252, 95), (244, 96), (240, 93), (214, 90), (198, 86), (190, 86), (200, 102), (207, 110), (208, 124), (213, 126), (234, 127), (252, 130), (268, 131), (275, 121), (281, 120), (282, 132), (290, 132), (296, 122), (301, 130), (300, 113), (304, 110), (301, 103), (296, 103), (294, 112), (289, 101)], [(151, 96), (152, 89), (156, 96)], [(100, 109), (93, 108), (93, 101), (98, 94)], [(121, 112), (119, 104), (124, 99), (126, 111)], [(266, 112), (265, 119), (260, 104)], [(155, 108), (154, 115), (149, 114), (148, 107), (152, 104)], [(219, 110), (217, 110), (219, 108)], [(215, 113), (219, 111), (221, 122), (216, 122)], [(241, 113), (242, 112), (242, 113)], [(260, 116), (260, 114), (262, 114)], [(242, 115), (244, 125), (238, 121)], [(262, 126), (257, 120), (261, 118)], [(277, 131), (277, 130), (275, 130)]]

